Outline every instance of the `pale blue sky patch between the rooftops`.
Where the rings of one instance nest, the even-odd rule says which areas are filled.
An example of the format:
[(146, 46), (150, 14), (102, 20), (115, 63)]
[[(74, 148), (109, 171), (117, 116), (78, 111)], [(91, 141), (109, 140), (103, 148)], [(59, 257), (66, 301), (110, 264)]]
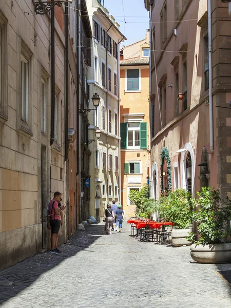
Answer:
[(149, 18), (148, 11), (144, 8), (144, 0), (104, 0), (104, 6), (120, 24), (120, 31), (127, 38), (121, 45), (127, 46), (145, 38), (146, 30), (149, 29)]

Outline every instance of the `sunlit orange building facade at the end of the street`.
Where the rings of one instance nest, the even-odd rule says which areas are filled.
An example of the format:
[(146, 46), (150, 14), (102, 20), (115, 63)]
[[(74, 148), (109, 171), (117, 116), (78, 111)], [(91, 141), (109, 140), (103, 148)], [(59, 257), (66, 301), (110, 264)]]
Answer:
[(144, 40), (120, 51), (121, 204), (134, 216), (131, 190), (148, 181), (149, 154), (149, 30)]

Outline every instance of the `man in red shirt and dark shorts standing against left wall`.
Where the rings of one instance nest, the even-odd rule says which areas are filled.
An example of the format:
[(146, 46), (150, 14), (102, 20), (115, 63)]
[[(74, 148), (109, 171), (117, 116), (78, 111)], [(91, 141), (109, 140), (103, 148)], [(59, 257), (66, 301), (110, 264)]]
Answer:
[(62, 194), (59, 191), (54, 192), (54, 198), (50, 201), (48, 205), (48, 213), (50, 218), (48, 228), (50, 228), (52, 232), (50, 253), (53, 254), (60, 253), (59, 249), (57, 249), (57, 240), (59, 237), (59, 230), (61, 226), (61, 212), (65, 209), (64, 205), (61, 205), (59, 207), (61, 197)]

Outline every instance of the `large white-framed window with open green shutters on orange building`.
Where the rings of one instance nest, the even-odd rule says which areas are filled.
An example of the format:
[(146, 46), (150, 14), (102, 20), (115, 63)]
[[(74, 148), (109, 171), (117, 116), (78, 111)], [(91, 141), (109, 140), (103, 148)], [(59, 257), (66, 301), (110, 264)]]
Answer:
[[(147, 123), (129, 122), (120, 124), (121, 148), (147, 148)], [(139, 139), (138, 139), (139, 137)]]

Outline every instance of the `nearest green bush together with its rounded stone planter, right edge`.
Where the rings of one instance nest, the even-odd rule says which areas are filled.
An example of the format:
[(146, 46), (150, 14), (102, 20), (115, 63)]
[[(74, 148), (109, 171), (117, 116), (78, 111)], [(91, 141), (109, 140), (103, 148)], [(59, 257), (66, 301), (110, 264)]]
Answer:
[[(203, 187), (193, 201), (199, 239), (191, 245), (191, 257), (199, 263), (231, 262), (231, 200), (222, 200), (219, 190)], [(190, 234), (188, 240), (194, 240)]]

